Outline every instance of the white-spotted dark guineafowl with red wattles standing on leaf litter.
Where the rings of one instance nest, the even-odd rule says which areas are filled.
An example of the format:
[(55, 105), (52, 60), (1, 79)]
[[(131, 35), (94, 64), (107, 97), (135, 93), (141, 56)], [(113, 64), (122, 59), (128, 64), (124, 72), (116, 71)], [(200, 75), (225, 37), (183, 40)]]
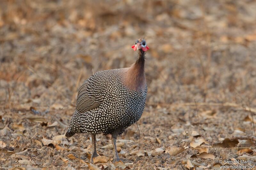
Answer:
[(137, 122), (145, 108), (147, 83), (145, 78), (146, 40), (140, 38), (132, 46), (138, 51), (134, 64), (126, 68), (99, 71), (89, 77), (78, 90), (76, 108), (70, 120), (66, 137), (76, 133), (92, 136), (92, 156), (96, 152), (96, 135), (111, 135), (114, 148), (113, 161), (121, 160), (117, 154), (116, 138)]

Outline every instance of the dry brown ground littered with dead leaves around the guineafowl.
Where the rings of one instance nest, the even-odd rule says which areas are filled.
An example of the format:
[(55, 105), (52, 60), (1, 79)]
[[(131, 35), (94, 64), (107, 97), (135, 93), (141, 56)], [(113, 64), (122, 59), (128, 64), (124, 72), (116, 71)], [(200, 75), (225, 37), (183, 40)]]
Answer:
[(97, 135), (106, 163), (93, 167), (90, 135), (63, 135), (79, 86), (135, 62), (131, 46), (141, 36), (150, 47), (148, 96), (140, 149), (136, 124), (119, 137), (127, 166), (256, 160), (255, 9), (250, 0), (0, 1), (1, 169), (122, 169), (101, 148), (108, 137)]

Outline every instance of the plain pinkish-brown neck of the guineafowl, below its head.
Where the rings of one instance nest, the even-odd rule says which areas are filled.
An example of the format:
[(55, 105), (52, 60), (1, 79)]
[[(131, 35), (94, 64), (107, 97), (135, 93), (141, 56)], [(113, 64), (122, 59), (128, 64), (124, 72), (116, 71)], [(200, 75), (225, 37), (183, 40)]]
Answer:
[(141, 49), (138, 53), (138, 59), (131, 67), (128, 68), (125, 84), (132, 90), (136, 90), (140, 87), (145, 87), (146, 79), (145, 79), (145, 52)]

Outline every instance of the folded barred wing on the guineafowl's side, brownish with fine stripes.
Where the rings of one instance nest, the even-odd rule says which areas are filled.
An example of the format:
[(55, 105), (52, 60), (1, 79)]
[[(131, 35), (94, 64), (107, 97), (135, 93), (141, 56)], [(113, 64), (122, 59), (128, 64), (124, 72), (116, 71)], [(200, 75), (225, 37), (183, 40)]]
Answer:
[(102, 96), (90, 93), (92, 82), (91, 77), (84, 81), (80, 89), (78, 90), (76, 100), (76, 110), (79, 113), (84, 113), (89, 110), (93, 110), (100, 106), (102, 102)]

